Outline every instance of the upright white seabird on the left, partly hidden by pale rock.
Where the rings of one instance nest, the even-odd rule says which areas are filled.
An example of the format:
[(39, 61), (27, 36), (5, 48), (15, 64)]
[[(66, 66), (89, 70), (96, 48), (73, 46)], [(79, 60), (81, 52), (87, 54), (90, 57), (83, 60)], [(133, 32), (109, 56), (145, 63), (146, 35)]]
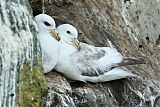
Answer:
[(55, 32), (55, 21), (49, 15), (39, 14), (35, 16), (35, 21), (38, 26), (44, 73), (47, 73), (54, 68), (58, 61), (60, 37)]

